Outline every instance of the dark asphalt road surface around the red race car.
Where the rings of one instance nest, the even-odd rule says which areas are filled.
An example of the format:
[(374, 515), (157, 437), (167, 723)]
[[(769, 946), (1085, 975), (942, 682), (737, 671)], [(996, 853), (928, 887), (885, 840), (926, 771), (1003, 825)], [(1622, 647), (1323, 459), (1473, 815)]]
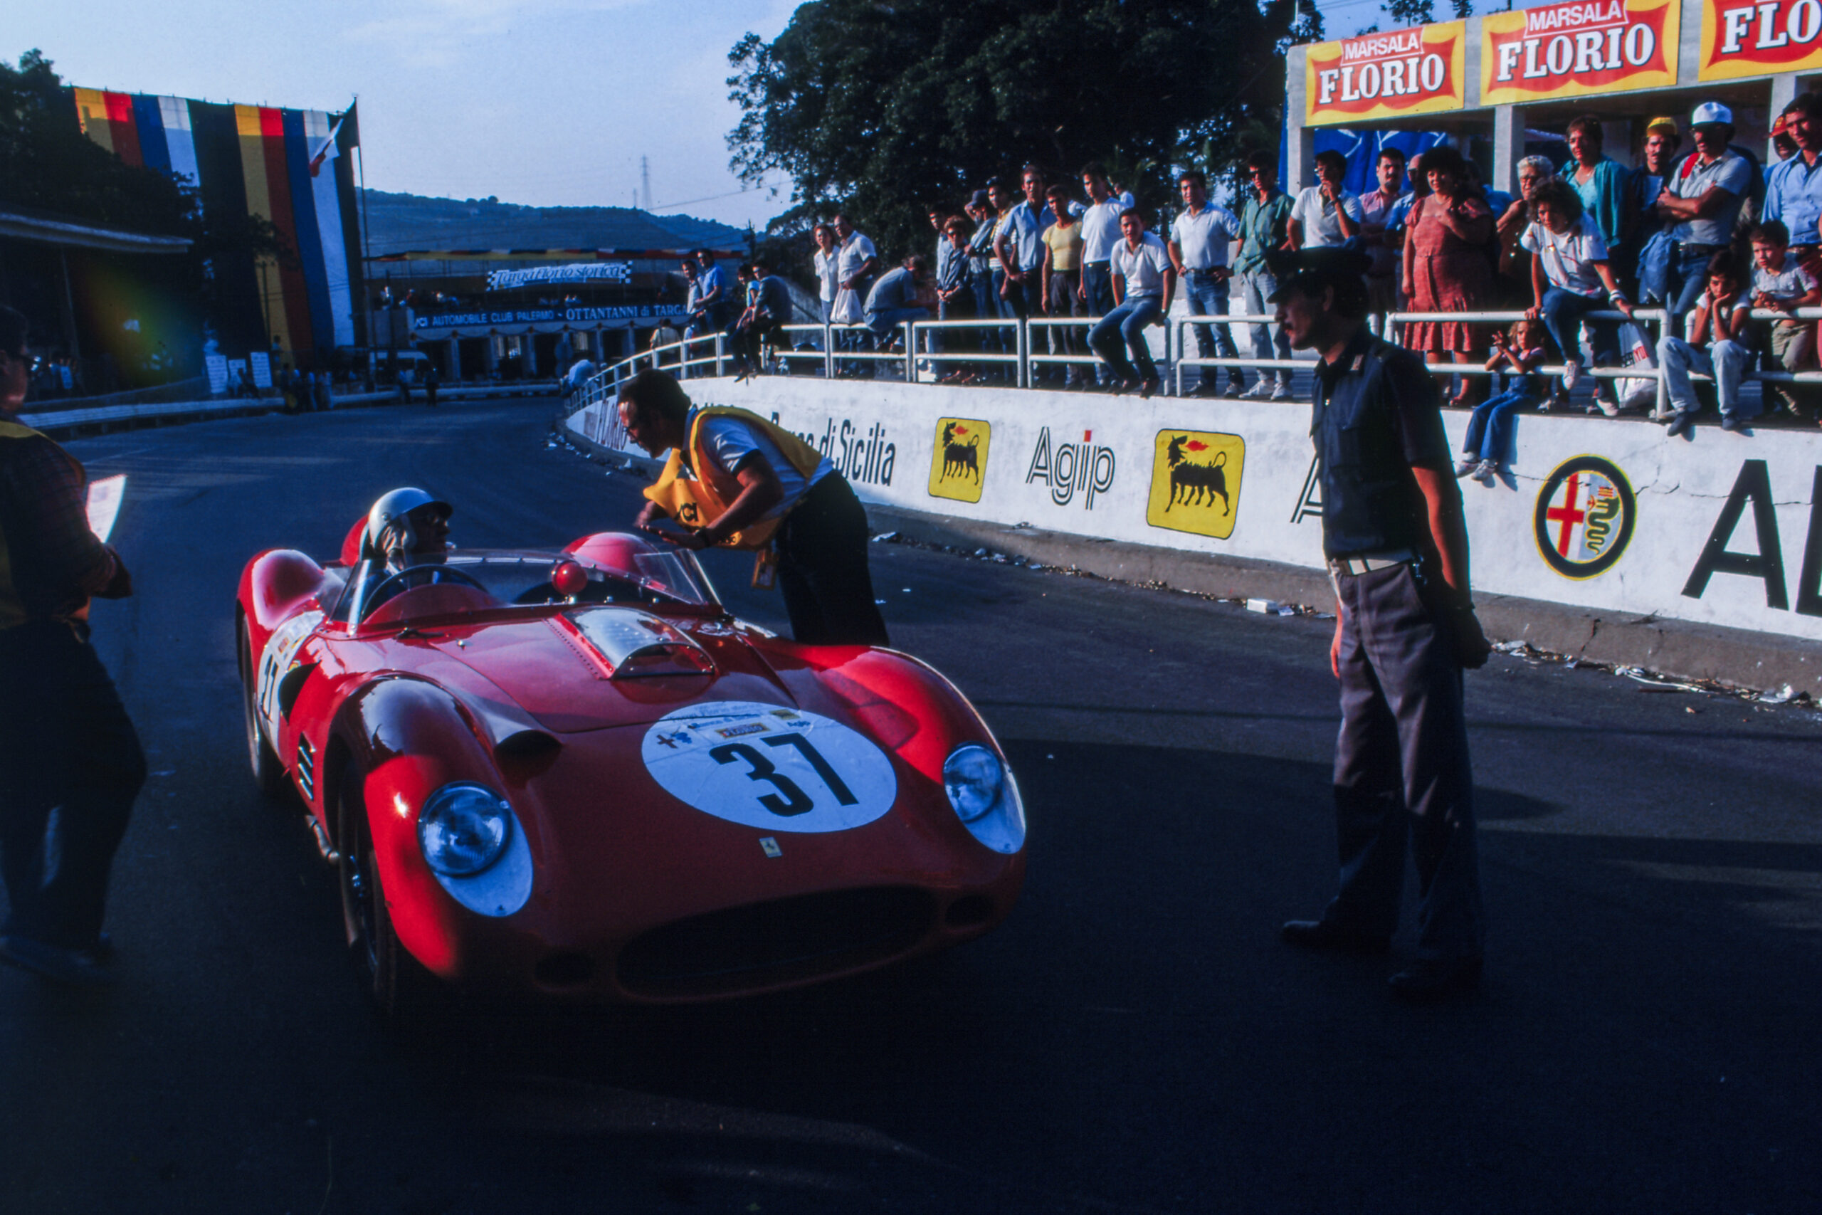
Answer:
[[(1498, 656), (1470, 676), (1492, 940), (1470, 1002), (1283, 947), (1334, 885), (1328, 623), (898, 545), (895, 641), (1026, 791), (1026, 894), (864, 980), (670, 1011), (457, 1007), (383, 1031), (301, 816), (246, 772), (244, 559), (383, 490), (468, 546), (627, 521), (547, 404), (73, 444), (126, 472), (138, 596), (97, 607), (153, 778), (118, 987), (0, 973), (0, 1210), (1815, 1211), (1822, 714)], [(712, 570), (742, 616), (782, 627)], [(1407, 942), (1399, 940), (1397, 953)]]

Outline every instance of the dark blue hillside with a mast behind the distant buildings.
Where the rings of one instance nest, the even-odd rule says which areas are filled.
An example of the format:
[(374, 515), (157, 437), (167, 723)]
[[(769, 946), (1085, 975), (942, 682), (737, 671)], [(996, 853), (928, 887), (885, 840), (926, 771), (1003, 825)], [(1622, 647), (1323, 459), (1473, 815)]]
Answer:
[(372, 255), (406, 250), (743, 250), (740, 228), (621, 206), (517, 206), (494, 199), (364, 193)]

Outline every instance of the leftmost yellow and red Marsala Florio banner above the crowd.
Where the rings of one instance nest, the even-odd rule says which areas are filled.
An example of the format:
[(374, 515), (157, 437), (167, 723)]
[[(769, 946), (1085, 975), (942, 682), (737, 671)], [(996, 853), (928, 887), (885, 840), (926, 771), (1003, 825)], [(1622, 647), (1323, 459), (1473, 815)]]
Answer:
[(1461, 109), (1467, 22), (1319, 42), (1308, 51), (1305, 122), (1361, 122)]

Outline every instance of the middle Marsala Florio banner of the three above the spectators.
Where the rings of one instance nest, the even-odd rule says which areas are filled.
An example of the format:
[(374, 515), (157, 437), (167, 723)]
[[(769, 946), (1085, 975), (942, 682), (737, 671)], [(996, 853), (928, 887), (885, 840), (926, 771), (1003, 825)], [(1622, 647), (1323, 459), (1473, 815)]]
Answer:
[(1572, 0), (1481, 18), (1481, 104), (1676, 84), (1680, 0)]

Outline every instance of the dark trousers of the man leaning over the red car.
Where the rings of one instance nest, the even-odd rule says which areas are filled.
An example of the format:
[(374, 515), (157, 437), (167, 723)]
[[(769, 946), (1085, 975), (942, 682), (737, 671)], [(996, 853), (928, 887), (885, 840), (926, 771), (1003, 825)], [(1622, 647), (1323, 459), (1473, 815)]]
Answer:
[(840, 474), (791, 508), (774, 537), (778, 588), (802, 645), (891, 645), (873, 601), (867, 512)]

